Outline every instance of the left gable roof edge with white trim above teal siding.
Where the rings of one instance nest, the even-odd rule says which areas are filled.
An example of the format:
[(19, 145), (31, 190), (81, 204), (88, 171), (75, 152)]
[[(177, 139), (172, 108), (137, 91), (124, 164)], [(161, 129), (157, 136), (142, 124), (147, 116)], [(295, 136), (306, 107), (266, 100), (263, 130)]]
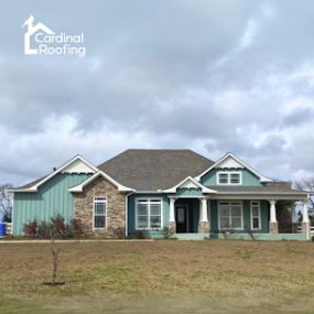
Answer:
[(66, 171), (66, 169), (71, 167), (71, 165), (76, 164), (76, 162), (80, 161), (83, 164), (86, 165), (87, 169), (89, 169), (89, 173), (97, 172), (97, 167), (95, 167), (91, 163), (89, 163), (86, 159), (84, 159), (82, 155), (76, 155), (66, 163), (64, 163), (62, 166), (53, 171), (46, 176), (43, 176), (41, 178), (37, 178), (31, 183), (28, 183), (25, 185), (22, 185), (20, 187), (8, 190), (8, 192), (36, 192), (37, 188), (44, 184), (46, 181), (55, 176), (57, 173), (62, 173), (63, 171)]

